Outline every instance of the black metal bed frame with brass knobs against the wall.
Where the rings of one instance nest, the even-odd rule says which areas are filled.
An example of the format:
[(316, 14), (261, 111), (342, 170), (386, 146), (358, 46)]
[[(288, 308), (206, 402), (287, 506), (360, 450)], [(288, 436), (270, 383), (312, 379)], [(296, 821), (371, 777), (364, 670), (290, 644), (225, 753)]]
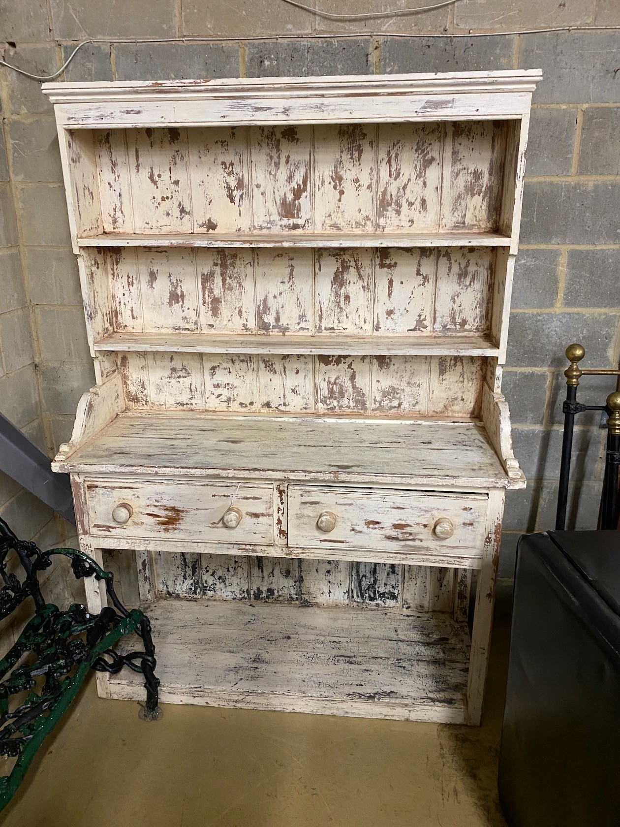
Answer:
[[(556, 531), (563, 531), (566, 523), (566, 505), (570, 480), (570, 456), (573, 447), (573, 428), (575, 416), (584, 411), (604, 411), (607, 420), (607, 448), (605, 452), (605, 472), (603, 476), (603, 495), (599, 519), (600, 528), (618, 528), (618, 468), (620, 467), (620, 370), (603, 370), (580, 368), (579, 362), (584, 358), (584, 347), (578, 344), (566, 348), (566, 358), (570, 366), (564, 371), (566, 377), (566, 399), (562, 405), (564, 414), (564, 436), (562, 439), (562, 459), (560, 464), (560, 486), (557, 498)], [(583, 375), (618, 376), (617, 390), (608, 395), (604, 405), (584, 405), (577, 401), (579, 379)]]

